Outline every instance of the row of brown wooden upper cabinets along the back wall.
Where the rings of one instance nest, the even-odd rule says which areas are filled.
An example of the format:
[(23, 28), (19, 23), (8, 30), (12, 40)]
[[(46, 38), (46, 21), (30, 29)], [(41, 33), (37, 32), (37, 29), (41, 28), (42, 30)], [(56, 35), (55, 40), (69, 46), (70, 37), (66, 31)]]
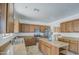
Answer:
[(47, 28), (45, 25), (34, 25), (34, 24), (19, 24), (20, 32), (34, 32), (34, 30), (39, 27), (40, 32), (44, 32)]

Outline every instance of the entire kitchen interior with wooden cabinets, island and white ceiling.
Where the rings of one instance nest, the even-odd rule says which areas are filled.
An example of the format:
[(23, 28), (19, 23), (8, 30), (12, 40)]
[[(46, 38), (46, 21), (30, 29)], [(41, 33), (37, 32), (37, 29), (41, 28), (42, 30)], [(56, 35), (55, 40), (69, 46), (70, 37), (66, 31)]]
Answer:
[(0, 3), (0, 55), (78, 55), (78, 6)]

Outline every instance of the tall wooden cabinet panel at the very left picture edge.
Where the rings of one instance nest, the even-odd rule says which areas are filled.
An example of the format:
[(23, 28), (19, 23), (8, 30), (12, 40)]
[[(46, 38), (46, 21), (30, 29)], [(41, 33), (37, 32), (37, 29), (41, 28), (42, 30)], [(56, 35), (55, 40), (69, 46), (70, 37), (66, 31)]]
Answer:
[(7, 4), (0, 3), (0, 33), (6, 33), (6, 9)]

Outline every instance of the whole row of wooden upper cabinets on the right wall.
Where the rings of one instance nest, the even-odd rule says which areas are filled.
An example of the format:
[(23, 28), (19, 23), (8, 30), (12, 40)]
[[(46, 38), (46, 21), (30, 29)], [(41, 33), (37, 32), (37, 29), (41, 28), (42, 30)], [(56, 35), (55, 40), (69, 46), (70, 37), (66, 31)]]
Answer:
[(60, 24), (61, 32), (79, 32), (79, 19)]

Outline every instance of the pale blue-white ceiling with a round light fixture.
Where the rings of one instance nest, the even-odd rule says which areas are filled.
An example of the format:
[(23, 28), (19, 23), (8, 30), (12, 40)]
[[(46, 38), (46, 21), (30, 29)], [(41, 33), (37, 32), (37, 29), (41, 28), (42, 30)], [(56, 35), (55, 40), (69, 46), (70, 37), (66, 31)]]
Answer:
[(78, 3), (15, 3), (14, 8), (20, 19), (45, 23), (79, 13)]

